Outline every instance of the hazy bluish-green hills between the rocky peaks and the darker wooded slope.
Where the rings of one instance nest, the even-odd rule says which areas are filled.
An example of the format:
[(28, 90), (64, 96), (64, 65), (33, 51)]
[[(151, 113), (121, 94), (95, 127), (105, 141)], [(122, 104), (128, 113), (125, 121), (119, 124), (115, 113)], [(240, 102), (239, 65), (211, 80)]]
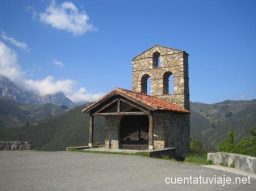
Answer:
[(24, 104), (10, 97), (0, 97), (0, 129), (29, 125), (68, 111), (67, 106)]

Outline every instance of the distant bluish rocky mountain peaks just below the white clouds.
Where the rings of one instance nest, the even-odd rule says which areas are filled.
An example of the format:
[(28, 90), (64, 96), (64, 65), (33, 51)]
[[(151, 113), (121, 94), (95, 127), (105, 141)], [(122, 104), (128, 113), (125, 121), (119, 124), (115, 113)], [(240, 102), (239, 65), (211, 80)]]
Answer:
[(0, 75), (0, 97), (11, 97), (14, 100), (21, 103), (30, 104), (55, 104), (55, 105), (75, 105), (70, 99), (68, 99), (63, 92), (57, 92), (56, 94), (48, 94), (40, 96), (32, 94), (28, 91), (20, 90), (9, 78)]

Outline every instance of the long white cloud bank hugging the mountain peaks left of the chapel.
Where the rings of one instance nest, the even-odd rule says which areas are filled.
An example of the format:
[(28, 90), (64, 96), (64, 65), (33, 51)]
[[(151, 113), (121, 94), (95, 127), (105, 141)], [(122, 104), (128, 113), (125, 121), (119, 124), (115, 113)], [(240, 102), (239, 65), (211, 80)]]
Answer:
[(18, 63), (16, 52), (0, 41), (0, 74), (12, 80), (23, 90), (35, 92), (39, 95), (63, 92), (73, 102), (95, 101), (103, 94), (90, 94), (84, 87), (77, 90), (77, 82), (73, 79), (55, 80), (52, 76), (44, 79), (28, 79)]

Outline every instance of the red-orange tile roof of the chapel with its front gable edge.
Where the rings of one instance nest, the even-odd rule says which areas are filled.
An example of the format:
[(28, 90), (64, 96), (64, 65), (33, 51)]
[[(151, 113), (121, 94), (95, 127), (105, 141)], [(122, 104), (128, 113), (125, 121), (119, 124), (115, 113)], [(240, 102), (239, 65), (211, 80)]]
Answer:
[(94, 105), (97, 105), (100, 103), (102, 100), (105, 100), (107, 97), (115, 94), (115, 93), (121, 93), (124, 96), (130, 97), (131, 99), (137, 100), (138, 102), (141, 102), (144, 105), (147, 105), (148, 107), (154, 108), (154, 110), (162, 110), (162, 111), (171, 111), (171, 112), (177, 112), (177, 113), (187, 113), (189, 114), (190, 112), (187, 109), (181, 108), (169, 101), (160, 99), (155, 96), (150, 96), (147, 94), (142, 94), (130, 90), (125, 90), (122, 88), (115, 88), (114, 90), (110, 91), (108, 94), (105, 96), (101, 97), (100, 100), (94, 102), (92, 105), (89, 107), (85, 108), (82, 110), (82, 112), (88, 112), (90, 109), (94, 107)]

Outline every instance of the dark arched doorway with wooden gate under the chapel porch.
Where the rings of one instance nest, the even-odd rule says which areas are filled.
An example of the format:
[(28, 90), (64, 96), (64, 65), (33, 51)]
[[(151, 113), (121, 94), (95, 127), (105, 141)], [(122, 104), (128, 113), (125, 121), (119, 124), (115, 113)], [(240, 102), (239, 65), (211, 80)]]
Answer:
[(120, 143), (122, 149), (148, 149), (148, 117), (123, 116), (120, 124)]

